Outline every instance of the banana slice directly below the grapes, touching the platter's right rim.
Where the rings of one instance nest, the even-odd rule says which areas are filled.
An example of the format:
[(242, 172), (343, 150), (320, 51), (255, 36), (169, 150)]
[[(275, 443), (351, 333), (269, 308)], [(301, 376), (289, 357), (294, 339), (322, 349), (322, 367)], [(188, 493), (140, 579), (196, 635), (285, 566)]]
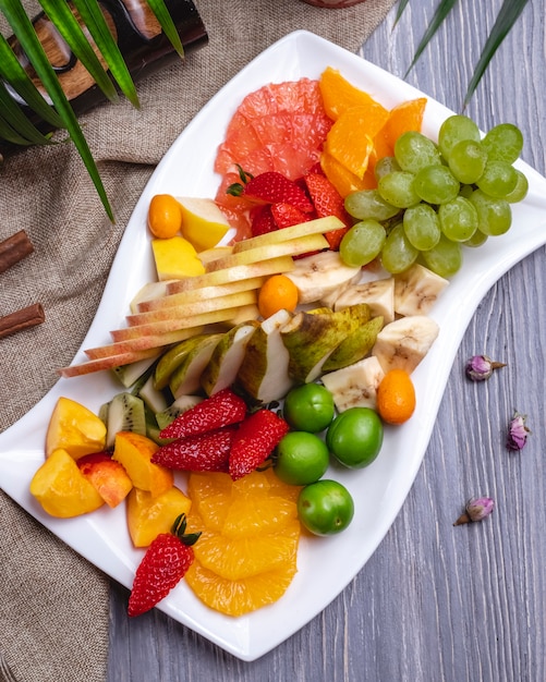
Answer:
[(436, 272), (416, 263), (395, 276), (395, 312), (398, 315), (427, 315), (449, 284)]

